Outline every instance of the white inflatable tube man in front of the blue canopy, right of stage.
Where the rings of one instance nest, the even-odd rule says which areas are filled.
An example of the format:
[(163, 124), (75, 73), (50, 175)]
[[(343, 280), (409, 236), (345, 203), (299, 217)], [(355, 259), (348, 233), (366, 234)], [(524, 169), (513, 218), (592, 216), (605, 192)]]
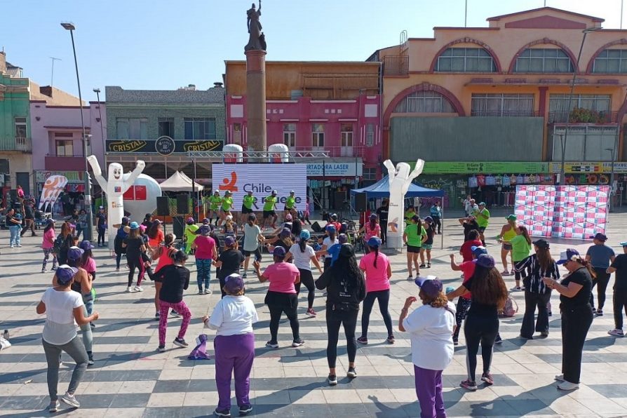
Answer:
[(384, 166), (388, 169), (388, 180), (390, 184), (390, 207), (388, 213), (387, 247), (401, 250), (403, 248), (403, 230), (405, 229), (405, 194), (410, 188), (412, 180), (422, 173), (424, 167), (423, 160), (417, 160), (414, 170), (410, 173), (410, 165), (398, 163), (396, 167), (390, 160), (384, 161)]

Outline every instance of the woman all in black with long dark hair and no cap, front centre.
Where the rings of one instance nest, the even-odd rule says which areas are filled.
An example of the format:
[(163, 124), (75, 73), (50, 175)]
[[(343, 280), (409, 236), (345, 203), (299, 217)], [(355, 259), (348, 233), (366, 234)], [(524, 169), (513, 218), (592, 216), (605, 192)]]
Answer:
[(329, 364), (330, 386), (337, 384), (335, 375), (335, 360), (337, 360), (337, 340), (339, 327), (344, 325), (346, 335), (346, 351), (349, 354), (349, 370), (346, 373), (351, 379), (357, 377), (355, 370), (355, 356), (357, 354), (357, 342), (355, 328), (359, 304), (365, 298), (366, 289), (363, 274), (357, 267), (355, 250), (353, 245), (342, 245), (337, 260), (316, 281), (316, 288), (328, 292), (326, 304), (327, 320), (327, 361)]

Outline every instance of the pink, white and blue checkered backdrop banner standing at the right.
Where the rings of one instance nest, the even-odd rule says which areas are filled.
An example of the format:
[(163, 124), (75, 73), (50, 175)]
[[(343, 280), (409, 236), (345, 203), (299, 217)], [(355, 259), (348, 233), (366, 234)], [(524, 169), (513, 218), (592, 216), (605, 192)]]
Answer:
[(588, 239), (605, 233), (608, 186), (517, 186), (515, 214), (531, 236)]

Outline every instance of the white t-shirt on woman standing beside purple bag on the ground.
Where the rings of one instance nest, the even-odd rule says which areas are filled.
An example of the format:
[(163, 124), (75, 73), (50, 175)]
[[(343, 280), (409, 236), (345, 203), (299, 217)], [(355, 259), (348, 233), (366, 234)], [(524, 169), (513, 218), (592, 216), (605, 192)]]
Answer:
[(241, 335), (252, 332), (257, 321), (257, 309), (250, 298), (227, 295), (215, 304), (207, 325), (217, 330), (215, 335)]

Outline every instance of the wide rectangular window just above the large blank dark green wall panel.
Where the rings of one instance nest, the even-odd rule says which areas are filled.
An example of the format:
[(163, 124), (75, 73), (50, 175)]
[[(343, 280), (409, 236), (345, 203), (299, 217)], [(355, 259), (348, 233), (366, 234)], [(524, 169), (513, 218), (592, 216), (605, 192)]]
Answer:
[(472, 116), (533, 116), (534, 95), (473, 94)]

